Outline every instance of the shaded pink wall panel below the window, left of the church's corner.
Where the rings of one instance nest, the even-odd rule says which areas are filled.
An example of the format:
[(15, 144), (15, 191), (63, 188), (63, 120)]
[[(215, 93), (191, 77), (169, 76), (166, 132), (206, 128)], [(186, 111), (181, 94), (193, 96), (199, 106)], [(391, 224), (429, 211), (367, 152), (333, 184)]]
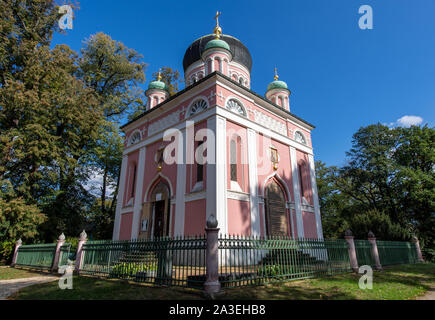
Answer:
[(205, 209), (205, 199), (186, 202), (184, 213), (184, 235), (191, 236), (205, 233)]

